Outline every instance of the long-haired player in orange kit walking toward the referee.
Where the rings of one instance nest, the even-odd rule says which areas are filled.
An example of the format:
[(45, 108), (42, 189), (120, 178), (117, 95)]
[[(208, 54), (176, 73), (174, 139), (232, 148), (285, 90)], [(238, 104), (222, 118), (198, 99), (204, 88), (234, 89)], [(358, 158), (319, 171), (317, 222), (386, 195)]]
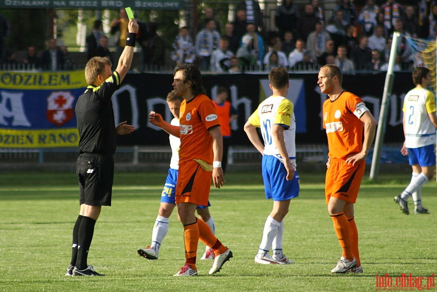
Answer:
[(225, 182), (221, 167), (223, 141), (217, 113), (205, 95), (202, 76), (192, 64), (176, 66), (173, 88), (184, 100), (180, 106), (179, 127), (172, 126), (158, 113), (151, 112), (149, 121), (167, 133), (180, 138), (179, 170), (175, 202), (179, 221), (184, 225), (185, 265), (175, 276), (197, 275), (196, 253), (199, 239), (214, 251), (214, 262), (209, 274), (220, 271), (232, 257), (202, 220), (197, 220), (198, 205), (208, 204), (211, 177), (216, 188)]

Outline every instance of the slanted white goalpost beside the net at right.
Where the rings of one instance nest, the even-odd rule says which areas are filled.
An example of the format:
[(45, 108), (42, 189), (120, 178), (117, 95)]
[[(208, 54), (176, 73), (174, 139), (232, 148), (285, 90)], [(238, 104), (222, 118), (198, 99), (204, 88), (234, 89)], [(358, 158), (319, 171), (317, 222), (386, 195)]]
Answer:
[(383, 93), (383, 99), (381, 101), (381, 110), (378, 119), (378, 128), (376, 130), (375, 147), (373, 148), (372, 165), (370, 167), (371, 181), (375, 181), (378, 176), (381, 148), (384, 142), (384, 133), (385, 133), (385, 125), (386, 125), (385, 122), (387, 119), (388, 102), (390, 100), (389, 97), (393, 90), (393, 80), (395, 77), (393, 73), (393, 68), (396, 65), (396, 53), (397, 53), (400, 37), (401, 34), (399, 32), (393, 33), (393, 40), (391, 43), (391, 50), (390, 50), (390, 59), (388, 60), (388, 70), (387, 70), (387, 74), (385, 75), (384, 93)]

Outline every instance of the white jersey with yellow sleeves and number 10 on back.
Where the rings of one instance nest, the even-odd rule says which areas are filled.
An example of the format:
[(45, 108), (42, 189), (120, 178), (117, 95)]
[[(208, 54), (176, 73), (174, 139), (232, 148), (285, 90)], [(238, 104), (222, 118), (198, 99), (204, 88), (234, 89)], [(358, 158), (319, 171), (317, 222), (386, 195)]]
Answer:
[(282, 96), (270, 96), (265, 99), (258, 109), (249, 117), (249, 123), (261, 128), (262, 139), (264, 140), (264, 155), (273, 155), (278, 159), (279, 150), (272, 138), (273, 125), (281, 125), (284, 130), (284, 142), (288, 158), (296, 167), (296, 118), (293, 111), (293, 103)]

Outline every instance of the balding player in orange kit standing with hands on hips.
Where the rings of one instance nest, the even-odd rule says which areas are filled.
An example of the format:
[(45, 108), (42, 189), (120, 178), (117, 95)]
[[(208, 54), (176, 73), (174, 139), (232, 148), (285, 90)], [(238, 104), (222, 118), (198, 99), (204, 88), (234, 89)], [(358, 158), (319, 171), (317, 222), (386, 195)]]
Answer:
[(363, 273), (353, 204), (364, 175), (366, 156), (375, 137), (376, 120), (361, 98), (342, 89), (342, 81), (343, 75), (337, 66), (320, 68), (317, 84), (329, 97), (323, 103), (322, 115), (329, 148), (326, 204), (343, 249), (331, 273)]

